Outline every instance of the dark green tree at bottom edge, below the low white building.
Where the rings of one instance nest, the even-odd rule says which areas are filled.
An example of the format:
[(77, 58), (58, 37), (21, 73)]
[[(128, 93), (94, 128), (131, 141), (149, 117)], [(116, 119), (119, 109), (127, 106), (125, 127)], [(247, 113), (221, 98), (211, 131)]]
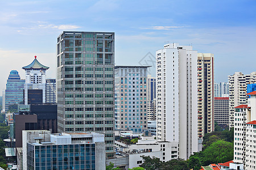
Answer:
[(141, 156), (144, 160), (143, 164), (139, 165), (139, 167), (145, 168), (147, 170), (159, 170), (162, 161), (159, 158), (150, 158), (150, 156)]

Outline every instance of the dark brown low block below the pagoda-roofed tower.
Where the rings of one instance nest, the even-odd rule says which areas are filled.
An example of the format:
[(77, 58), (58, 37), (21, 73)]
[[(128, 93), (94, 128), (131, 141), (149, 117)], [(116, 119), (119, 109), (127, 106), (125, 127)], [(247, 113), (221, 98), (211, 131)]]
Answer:
[(49, 130), (57, 133), (57, 105), (18, 105), (13, 113), (16, 147), (22, 147), (22, 130)]

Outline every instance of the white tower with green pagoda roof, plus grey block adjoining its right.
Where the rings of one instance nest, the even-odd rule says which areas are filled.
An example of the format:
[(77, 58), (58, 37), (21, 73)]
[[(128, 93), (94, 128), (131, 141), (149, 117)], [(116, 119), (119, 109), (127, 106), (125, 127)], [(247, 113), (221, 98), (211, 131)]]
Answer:
[(48, 80), (46, 78), (46, 70), (49, 67), (39, 63), (35, 56), (34, 61), (30, 65), (22, 67), (22, 69), (26, 71), (24, 104), (56, 103), (56, 96), (53, 90), (56, 80)]

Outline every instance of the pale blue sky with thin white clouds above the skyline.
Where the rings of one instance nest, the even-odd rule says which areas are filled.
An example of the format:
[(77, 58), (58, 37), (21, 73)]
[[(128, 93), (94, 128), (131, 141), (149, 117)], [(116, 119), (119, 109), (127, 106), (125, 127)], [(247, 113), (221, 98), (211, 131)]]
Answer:
[(116, 65), (151, 65), (168, 42), (214, 54), (214, 80), (256, 71), (256, 1), (0, 1), (0, 95), (34, 56), (56, 76), (62, 31), (115, 32)]

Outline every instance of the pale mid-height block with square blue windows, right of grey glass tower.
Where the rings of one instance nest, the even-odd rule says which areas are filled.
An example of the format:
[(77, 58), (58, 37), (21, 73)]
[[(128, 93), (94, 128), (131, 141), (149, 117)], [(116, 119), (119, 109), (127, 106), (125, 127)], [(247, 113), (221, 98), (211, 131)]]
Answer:
[(147, 67), (115, 66), (115, 129), (147, 129)]

